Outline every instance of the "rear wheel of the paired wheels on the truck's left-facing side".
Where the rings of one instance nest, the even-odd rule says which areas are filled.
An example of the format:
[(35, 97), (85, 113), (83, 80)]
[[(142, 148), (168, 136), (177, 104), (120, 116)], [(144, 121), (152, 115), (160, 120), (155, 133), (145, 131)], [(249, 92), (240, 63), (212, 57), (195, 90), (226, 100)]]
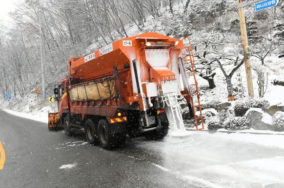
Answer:
[(98, 135), (103, 149), (110, 150), (116, 146), (116, 137), (111, 134), (110, 126), (106, 120), (99, 121)]

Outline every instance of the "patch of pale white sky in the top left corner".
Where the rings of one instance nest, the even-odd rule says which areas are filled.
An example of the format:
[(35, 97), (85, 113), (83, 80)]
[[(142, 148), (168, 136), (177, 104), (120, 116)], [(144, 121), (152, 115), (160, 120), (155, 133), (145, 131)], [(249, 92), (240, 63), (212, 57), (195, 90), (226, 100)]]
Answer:
[(15, 3), (18, 3), (20, 0), (0, 0), (0, 20), (1, 23), (8, 24), (9, 16), (8, 13), (13, 11), (16, 8)]

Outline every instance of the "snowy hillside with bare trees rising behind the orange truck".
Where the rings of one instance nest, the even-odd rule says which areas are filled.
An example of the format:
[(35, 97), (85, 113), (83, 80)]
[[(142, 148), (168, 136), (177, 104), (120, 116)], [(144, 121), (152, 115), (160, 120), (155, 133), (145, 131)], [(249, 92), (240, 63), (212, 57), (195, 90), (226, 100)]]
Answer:
[[(73, 2), (75, 3), (75, 0), (73, 0)], [(164, 3), (164, 1), (161, 2)], [(50, 0), (41, 4), (41, 6), (46, 10), (50, 10), (49, 12), (46, 12), (46, 16), (52, 13), (54, 18), (60, 16), (60, 13), (56, 12), (56, 7), (53, 6), (55, 4), (58, 6), (65, 6), (66, 2), (62, 1), (62, 3), (60, 3), (56, 0)], [(160, 7), (155, 14), (151, 11), (147, 11), (146, 8), (143, 8), (144, 16), (142, 20), (135, 20), (135, 22), (132, 20), (132, 18), (130, 19), (126, 14), (124, 14), (122, 17), (122, 22), (127, 36), (142, 34), (145, 32), (157, 32), (177, 38), (190, 35), (191, 42), (194, 48), (196, 47), (194, 53), (196, 55), (196, 66), (199, 68), (198, 74), (206, 75), (208, 73), (216, 72), (214, 77), (216, 87), (212, 89), (209, 88), (208, 81), (204, 80), (200, 76), (198, 77), (199, 86), (201, 88), (202, 103), (208, 103), (212, 100), (218, 100), (220, 102), (227, 101), (225, 77), (223, 76), (223, 73), (217, 62), (212, 61), (214, 58), (220, 59), (223, 64), (226, 64), (224, 68), (228, 72), (234, 67), (233, 61), (237, 58), (237, 56), (239, 56), (240, 59), (243, 57), (240, 54), (242, 45), (238, 25), (238, 13), (234, 9), (234, 6), (236, 5), (235, 0), (202, 0), (202, 2), (189, 0), (187, 9), (184, 9), (184, 0), (177, 1), (173, 4), (173, 13), (171, 13), (168, 4), (162, 4), (161, 6), (160, 3), (159, 5)], [(23, 20), (26, 23), (29, 23), (29, 20), (27, 20), (22, 14), (33, 6), (34, 5), (31, 5), (28, 2), (24, 2), (23, 8), (19, 8), (19, 10), (15, 11), (11, 15), (16, 21)], [(72, 8), (71, 5), (69, 6)], [(271, 103), (284, 103), (279, 97), (281, 93), (284, 93), (283, 86), (272, 84), (274, 80), (284, 80), (284, 59), (278, 58), (280, 54), (284, 53), (284, 34), (280, 28), (281, 24), (284, 24), (283, 7), (283, 2), (280, 2), (275, 8), (257, 13), (254, 12), (252, 6), (245, 8), (246, 15), (248, 16), (247, 27), (249, 40), (252, 48), (255, 49), (255, 55), (263, 55), (265, 51), (262, 51), (262, 48), (269, 47), (271, 50), (273, 48), (273, 50), (265, 57), (264, 65), (262, 65), (266, 69), (265, 73), (268, 73), (268, 86), (264, 98)], [(111, 6), (108, 8), (111, 9)], [(97, 13), (94, 12), (92, 14), (96, 15)], [(75, 15), (65, 18), (73, 19), (74, 23), (78, 23), (80, 21), (79, 18), (83, 16), (79, 13), (78, 15), (76, 15), (78, 16), (78, 19), (76, 19)], [(34, 15), (31, 14), (28, 17), (34, 17)], [(94, 38), (94, 36), (90, 35), (91, 37), (89, 39), (82, 38), (84, 35), (80, 33), (77, 34), (77, 39), (75, 39), (77, 28), (72, 26), (74, 31), (72, 28), (70, 31), (73, 31), (74, 35), (72, 36), (73, 39), (71, 40), (70, 31), (66, 33), (63, 30), (63, 33), (60, 34), (60, 32), (55, 30), (55, 28), (60, 25), (60, 18), (58, 20), (54, 19), (53, 21), (49, 20), (49, 17), (45, 17), (44, 19), (43, 30), (46, 34), (50, 34), (50, 36), (46, 36), (44, 40), (47, 96), (53, 95), (53, 85), (57, 83), (59, 79), (65, 77), (65, 62), (68, 58), (71, 56), (87, 54), (91, 51), (101, 48), (101, 46), (109, 44), (112, 40), (125, 37), (125, 34), (123, 34), (123, 29), (119, 26), (118, 28), (114, 27), (114, 23), (112, 23), (110, 33), (107, 31), (101, 32), (102, 30), (100, 29), (94, 29), (96, 36)], [(71, 20), (68, 22), (66, 21), (66, 23), (70, 22)], [(52, 28), (48, 24), (54, 24), (56, 27)], [(96, 27), (95, 23), (92, 24), (94, 24), (92, 27)], [(8, 102), (3, 100), (5, 85), (11, 85), (16, 94), (16, 96), (13, 97), (14, 99), (11, 101), (11, 109), (33, 113), (51, 110), (50, 104), (46, 100), (43, 100), (41, 95), (39, 96), (40, 100), (37, 101), (36, 94), (33, 94), (33, 90), (36, 86), (41, 87), (41, 72), (39, 67), (40, 65), (38, 64), (38, 44), (31, 42), (35, 32), (29, 33), (29, 30), (35, 27), (36, 25), (33, 23), (23, 27), (23, 31), (20, 30), (23, 32), (23, 36), (21, 36), (22, 43), (20, 43), (20, 46), (15, 46), (13, 44), (13, 42), (16, 42), (16, 39), (19, 38), (19, 36), (12, 34), (12, 31), (8, 32), (8, 37), (6, 37), (6, 39), (3, 41), (4, 45), (2, 48), (5, 52), (2, 54), (3, 56), (9, 57), (9, 55), (17, 54), (17, 58), (23, 57), (23, 59), (20, 62), (20, 65), (22, 65), (21, 69), (16, 69), (17, 71), (12, 72), (12, 74), (8, 76), (10, 81), (6, 80), (7, 75), (5, 75), (4, 72), (0, 74), (1, 80), (4, 81), (1, 82), (2, 85), (0, 85), (3, 90), (3, 92), (1, 92), (2, 99), (0, 102), (0, 107), (2, 108), (8, 107)], [(15, 29), (19, 29), (19, 26), (15, 26)], [(13, 38), (13, 36), (15, 38)], [(35, 36), (37, 38), (39, 37), (37, 34)], [(85, 35), (85, 37), (86, 36), (87, 35)], [(78, 37), (81, 38), (81, 42), (76, 42)], [(54, 43), (54, 41), (56, 42)], [(264, 46), (264, 41), (268, 41), (269, 44), (265, 44)], [(26, 53), (20, 54), (20, 47), (23, 47), (23, 49), (25, 49), (24, 52)], [(15, 53), (9, 53), (9, 49), (13, 49)], [(18, 61), (17, 58), (11, 59), (11, 61)], [(262, 62), (259, 58), (253, 56), (251, 57), (251, 64), (254, 65), (254, 67), (258, 67), (262, 64)], [(3, 66), (5, 68), (6, 65), (3, 64)], [(17, 66), (17, 64), (15, 64), (15, 66)], [(7, 68), (9, 69), (10, 67)], [(246, 97), (247, 86), (245, 84), (244, 66), (242, 66), (240, 70), (243, 81), (244, 97)], [(234, 86), (237, 85), (236, 82), (238, 73), (239, 72), (236, 72), (232, 78), (232, 83)], [(252, 70), (252, 73), (255, 96), (258, 96), (257, 73), (254, 70)], [(19, 77), (21, 75), (23, 78)], [(11, 82), (12, 80), (13, 82)], [(26, 84), (27, 80), (29, 80), (28, 84)], [(238, 98), (238, 95), (236, 95), (236, 98)], [(53, 105), (53, 108), (56, 108), (56, 105)]]

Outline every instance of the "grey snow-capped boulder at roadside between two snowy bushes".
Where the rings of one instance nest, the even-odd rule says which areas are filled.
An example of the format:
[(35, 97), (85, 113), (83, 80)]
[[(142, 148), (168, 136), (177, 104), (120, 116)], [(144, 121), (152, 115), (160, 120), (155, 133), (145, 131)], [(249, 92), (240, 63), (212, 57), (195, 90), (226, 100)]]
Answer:
[(250, 128), (274, 131), (272, 116), (265, 113), (261, 108), (249, 108), (244, 116), (249, 120)]

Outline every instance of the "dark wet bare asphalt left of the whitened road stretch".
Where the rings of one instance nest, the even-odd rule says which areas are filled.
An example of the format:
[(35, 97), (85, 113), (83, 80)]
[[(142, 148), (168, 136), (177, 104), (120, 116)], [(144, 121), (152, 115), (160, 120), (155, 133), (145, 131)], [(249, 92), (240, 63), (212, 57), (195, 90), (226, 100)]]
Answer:
[[(130, 138), (129, 138), (130, 139)], [(0, 111), (0, 141), (6, 153), (0, 187), (188, 187), (163, 171), (159, 154), (127, 141), (122, 149), (103, 150), (84, 135), (48, 131), (47, 124)], [(145, 140), (144, 140), (145, 141)], [(60, 169), (73, 164), (72, 169)]]

